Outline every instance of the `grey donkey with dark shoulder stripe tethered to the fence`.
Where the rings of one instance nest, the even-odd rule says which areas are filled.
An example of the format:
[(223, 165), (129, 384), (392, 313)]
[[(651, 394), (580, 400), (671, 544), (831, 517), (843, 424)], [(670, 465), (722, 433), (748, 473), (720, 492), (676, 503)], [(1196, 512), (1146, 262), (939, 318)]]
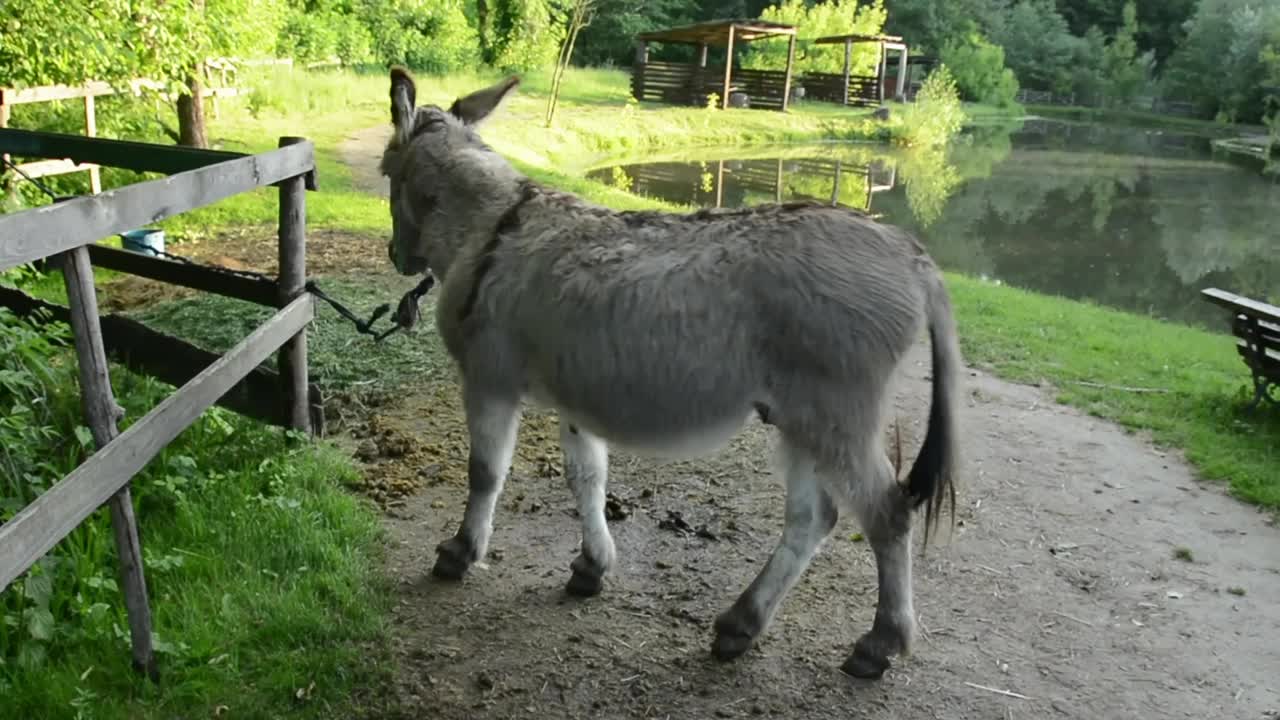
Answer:
[[(594, 596), (616, 561), (604, 520), (608, 447), (695, 457), (758, 415), (780, 437), (782, 538), (714, 624), (712, 652), (746, 652), (836, 524), (861, 521), (876, 555), (872, 629), (841, 669), (879, 678), (909, 652), (911, 519), (925, 543), (943, 501), (955, 516), (956, 373), (951, 304), (906, 232), (850, 210), (620, 213), (543, 187), (476, 135), (516, 87), (507, 78), (443, 110), (415, 105), (390, 72), (397, 272), (439, 281), (435, 323), (458, 366), (470, 436), (468, 495), (433, 575), (461, 579), (485, 556), (521, 405), (557, 410), (564, 475), (582, 519), (566, 591)], [(890, 380), (927, 328), (928, 430), (905, 482), (884, 450)]]

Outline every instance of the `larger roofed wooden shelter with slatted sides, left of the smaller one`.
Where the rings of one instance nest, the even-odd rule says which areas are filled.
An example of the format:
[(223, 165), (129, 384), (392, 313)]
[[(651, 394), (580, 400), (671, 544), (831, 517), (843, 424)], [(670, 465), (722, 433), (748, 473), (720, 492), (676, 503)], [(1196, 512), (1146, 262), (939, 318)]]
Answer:
[[(787, 37), (786, 70), (753, 70), (733, 67), (733, 49), (742, 42)], [(695, 45), (698, 64), (649, 60), (649, 44)], [(724, 67), (707, 65), (707, 49), (726, 49)], [(636, 36), (636, 60), (631, 69), (631, 95), (636, 100), (673, 105), (705, 105), (719, 95), (721, 108), (730, 97), (742, 97), (748, 106), (786, 110), (791, 99), (791, 68), (795, 65), (796, 28), (765, 20), (713, 20), (643, 32)], [(735, 102), (736, 104), (736, 102)]]

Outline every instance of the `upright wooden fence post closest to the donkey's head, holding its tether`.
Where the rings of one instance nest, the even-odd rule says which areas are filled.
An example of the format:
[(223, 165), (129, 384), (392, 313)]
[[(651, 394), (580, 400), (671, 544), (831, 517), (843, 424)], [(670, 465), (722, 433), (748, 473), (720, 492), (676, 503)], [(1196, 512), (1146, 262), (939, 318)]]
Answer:
[[(303, 137), (282, 137), (279, 146), (306, 142)], [(280, 181), (279, 227), (279, 305), (284, 307), (303, 292), (307, 282), (307, 195), (306, 176)], [(314, 182), (314, 181), (312, 181)], [(280, 347), (280, 382), (284, 383), (285, 418), (294, 430), (311, 433), (307, 383), (307, 333), (298, 332)]]

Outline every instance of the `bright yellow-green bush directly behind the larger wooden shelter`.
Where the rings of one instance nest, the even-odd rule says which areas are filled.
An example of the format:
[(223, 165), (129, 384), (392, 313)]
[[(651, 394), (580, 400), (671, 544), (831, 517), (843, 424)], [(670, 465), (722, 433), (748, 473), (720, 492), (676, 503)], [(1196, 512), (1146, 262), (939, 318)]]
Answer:
[[(769, 5), (760, 19), (797, 26), (795, 72), (840, 73), (845, 68), (844, 45), (814, 45), (812, 41), (831, 35), (881, 35), (884, 27), (883, 0), (831, 0), (809, 4), (805, 0), (783, 0)], [(759, 41), (746, 46), (742, 65), (781, 70), (787, 67), (787, 44), (781, 40)], [(854, 45), (851, 72), (876, 74), (876, 45)]]

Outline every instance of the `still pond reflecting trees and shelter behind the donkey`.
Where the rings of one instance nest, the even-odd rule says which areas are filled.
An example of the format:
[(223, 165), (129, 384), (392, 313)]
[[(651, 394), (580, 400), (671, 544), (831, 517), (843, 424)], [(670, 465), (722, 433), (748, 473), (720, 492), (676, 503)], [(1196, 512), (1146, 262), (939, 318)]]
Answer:
[(589, 176), (691, 206), (836, 201), (948, 270), (1212, 329), (1226, 318), (1202, 288), (1280, 300), (1280, 183), (1194, 135), (1028, 119), (946, 151), (705, 150)]

